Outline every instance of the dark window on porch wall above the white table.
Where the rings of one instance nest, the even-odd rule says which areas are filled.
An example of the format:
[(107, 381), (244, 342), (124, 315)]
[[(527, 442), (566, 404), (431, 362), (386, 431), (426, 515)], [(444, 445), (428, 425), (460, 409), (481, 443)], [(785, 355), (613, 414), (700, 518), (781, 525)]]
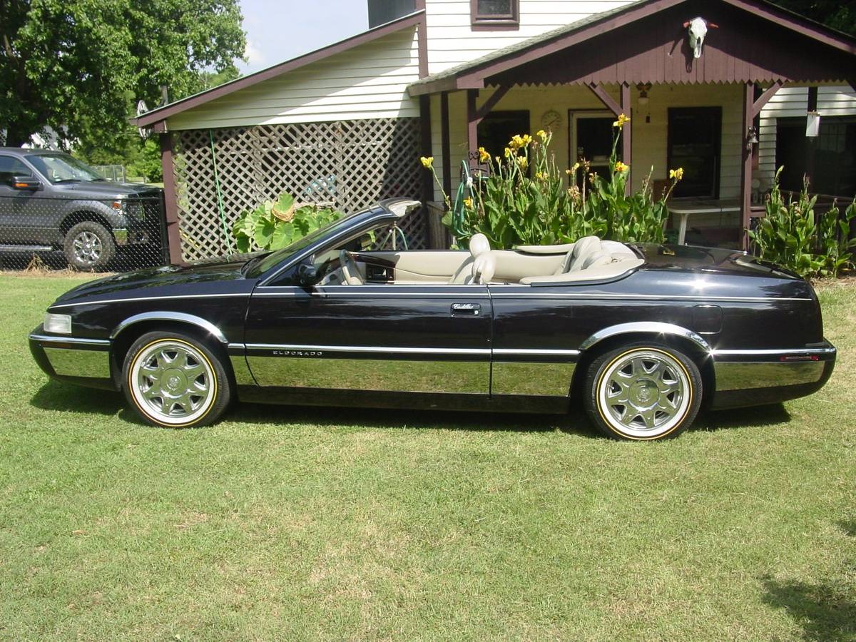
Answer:
[(719, 198), (722, 107), (669, 108), (669, 169), (683, 168), (675, 197)]

